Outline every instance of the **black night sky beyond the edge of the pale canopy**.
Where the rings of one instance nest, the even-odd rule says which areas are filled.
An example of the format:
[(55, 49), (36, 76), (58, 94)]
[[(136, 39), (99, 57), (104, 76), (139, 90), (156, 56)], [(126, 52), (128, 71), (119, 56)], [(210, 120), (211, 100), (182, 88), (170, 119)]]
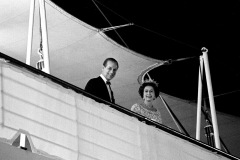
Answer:
[(240, 116), (239, 0), (53, 2), (99, 29), (133, 23), (105, 33), (140, 54), (173, 60), (150, 72), (161, 91), (172, 96), (196, 101), (199, 56), (206, 47), (216, 109)]

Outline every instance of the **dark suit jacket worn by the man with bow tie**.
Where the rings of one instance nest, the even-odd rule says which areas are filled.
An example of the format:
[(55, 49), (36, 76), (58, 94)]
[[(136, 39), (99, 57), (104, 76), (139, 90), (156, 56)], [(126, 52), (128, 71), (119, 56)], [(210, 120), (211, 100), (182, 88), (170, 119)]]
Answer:
[[(109, 96), (107, 86), (104, 80), (100, 76), (97, 78), (90, 79), (86, 84), (85, 91), (101, 99), (111, 102), (111, 98)], [(113, 93), (112, 93), (112, 97), (113, 97)], [(115, 103), (114, 97), (113, 97), (112, 103)]]

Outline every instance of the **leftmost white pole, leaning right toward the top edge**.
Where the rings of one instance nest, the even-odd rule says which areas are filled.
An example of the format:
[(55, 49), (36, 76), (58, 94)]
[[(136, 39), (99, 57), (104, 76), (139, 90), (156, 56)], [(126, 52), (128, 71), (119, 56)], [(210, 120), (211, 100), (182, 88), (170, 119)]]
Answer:
[(26, 64), (28, 64), (28, 65), (30, 65), (30, 59), (31, 59), (31, 53), (32, 53), (34, 9), (35, 9), (35, 0), (31, 0), (30, 13), (29, 13), (29, 24), (28, 24), (27, 56), (26, 56)]

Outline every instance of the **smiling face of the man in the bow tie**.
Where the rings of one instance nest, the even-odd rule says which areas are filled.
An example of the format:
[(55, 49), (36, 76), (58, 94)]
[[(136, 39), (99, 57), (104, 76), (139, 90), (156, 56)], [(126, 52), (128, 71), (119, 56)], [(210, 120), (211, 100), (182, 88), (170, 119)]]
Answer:
[(117, 70), (118, 66), (116, 63), (108, 61), (106, 66), (103, 66), (102, 74), (108, 81), (110, 81), (116, 75)]

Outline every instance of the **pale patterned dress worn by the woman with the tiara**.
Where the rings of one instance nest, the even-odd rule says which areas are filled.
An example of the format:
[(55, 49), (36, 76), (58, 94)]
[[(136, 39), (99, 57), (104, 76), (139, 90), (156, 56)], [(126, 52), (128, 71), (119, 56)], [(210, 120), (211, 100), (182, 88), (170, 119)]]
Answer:
[(141, 114), (142, 116), (145, 116), (153, 121), (156, 121), (162, 124), (162, 117), (159, 110), (151, 111), (144, 108), (141, 104), (136, 103), (131, 107), (131, 111)]

